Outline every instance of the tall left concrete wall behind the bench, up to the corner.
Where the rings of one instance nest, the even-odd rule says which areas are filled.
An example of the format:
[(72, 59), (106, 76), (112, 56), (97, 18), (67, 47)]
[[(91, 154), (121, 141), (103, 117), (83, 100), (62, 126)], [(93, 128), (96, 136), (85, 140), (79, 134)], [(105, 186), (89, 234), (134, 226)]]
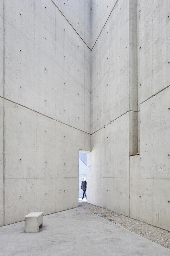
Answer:
[(78, 151), (91, 150), (91, 9), (58, 4), (0, 1), (1, 226), (78, 206)]

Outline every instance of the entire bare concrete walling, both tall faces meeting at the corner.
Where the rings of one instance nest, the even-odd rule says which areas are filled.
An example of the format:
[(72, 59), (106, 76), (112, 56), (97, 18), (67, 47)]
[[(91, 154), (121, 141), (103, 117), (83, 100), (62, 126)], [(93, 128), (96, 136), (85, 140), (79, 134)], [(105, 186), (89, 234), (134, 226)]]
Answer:
[[(0, 225), (88, 202), (170, 230), (168, 0), (0, 1)], [(139, 153), (139, 155), (136, 155)]]

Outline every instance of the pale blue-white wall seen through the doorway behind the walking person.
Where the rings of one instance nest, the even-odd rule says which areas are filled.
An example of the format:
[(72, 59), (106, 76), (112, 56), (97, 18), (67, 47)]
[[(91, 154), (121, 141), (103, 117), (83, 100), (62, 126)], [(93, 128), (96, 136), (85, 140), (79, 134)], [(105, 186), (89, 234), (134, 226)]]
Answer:
[(82, 177), (87, 177), (87, 155), (86, 153), (79, 152), (79, 184), (78, 184), (78, 197), (83, 196), (83, 190), (81, 189)]

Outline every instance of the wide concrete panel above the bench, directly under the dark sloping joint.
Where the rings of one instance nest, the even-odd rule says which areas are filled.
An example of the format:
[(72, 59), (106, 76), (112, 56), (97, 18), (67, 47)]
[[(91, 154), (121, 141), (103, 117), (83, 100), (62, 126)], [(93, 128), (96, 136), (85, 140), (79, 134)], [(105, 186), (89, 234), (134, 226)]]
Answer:
[(5, 178), (33, 178), (35, 113), (8, 100), (4, 111)]

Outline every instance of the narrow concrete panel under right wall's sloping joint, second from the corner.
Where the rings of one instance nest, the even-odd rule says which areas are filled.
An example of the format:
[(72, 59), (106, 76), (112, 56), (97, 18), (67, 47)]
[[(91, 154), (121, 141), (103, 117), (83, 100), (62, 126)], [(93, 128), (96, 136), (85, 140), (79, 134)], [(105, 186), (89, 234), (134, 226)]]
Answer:
[[(106, 125), (106, 127), (101, 130), (102, 130), (102, 177), (114, 177), (114, 122)], [(104, 207), (104, 208), (107, 208), (107, 207)]]

